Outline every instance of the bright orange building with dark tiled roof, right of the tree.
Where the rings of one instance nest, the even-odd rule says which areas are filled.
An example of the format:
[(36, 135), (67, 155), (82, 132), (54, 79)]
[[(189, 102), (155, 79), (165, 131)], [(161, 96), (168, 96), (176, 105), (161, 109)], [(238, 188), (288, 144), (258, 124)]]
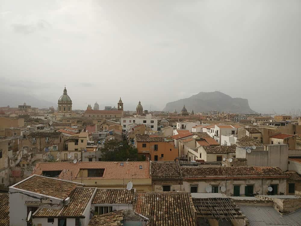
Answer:
[(151, 161), (175, 161), (178, 157), (178, 148), (173, 142), (166, 141), (163, 137), (136, 134), (135, 145), (139, 155), (144, 155)]

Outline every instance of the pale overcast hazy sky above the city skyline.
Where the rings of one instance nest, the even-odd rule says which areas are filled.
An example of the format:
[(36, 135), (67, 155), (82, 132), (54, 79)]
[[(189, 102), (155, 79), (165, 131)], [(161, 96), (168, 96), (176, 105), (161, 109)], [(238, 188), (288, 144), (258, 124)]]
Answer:
[(219, 90), (286, 113), (301, 108), (300, 27), (300, 0), (0, 0), (0, 89), (158, 110)]

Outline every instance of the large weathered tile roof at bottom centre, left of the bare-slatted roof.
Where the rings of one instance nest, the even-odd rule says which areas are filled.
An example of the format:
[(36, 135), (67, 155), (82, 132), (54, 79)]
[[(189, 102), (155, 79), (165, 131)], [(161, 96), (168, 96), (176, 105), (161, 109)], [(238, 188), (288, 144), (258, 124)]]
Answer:
[(149, 218), (150, 226), (195, 225), (189, 193), (137, 193), (134, 211)]

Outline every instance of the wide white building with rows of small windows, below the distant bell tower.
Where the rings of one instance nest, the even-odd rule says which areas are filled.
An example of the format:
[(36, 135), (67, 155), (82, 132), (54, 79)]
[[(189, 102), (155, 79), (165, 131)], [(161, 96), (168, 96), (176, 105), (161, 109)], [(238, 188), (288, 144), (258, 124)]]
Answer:
[(158, 118), (154, 118), (151, 114), (146, 116), (135, 115), (134, 117), (121, 118), (123, 130), (127, 130), (130, 124), (144, 124), (147, 127), (150, 127), (151, 130), (157, 131)]

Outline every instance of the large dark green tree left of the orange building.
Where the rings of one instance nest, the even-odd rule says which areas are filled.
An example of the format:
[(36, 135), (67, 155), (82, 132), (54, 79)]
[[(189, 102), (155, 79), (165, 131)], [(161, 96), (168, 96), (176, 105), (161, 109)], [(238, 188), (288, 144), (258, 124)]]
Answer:
[(124, 162), (129, 161), (144, 161), (142, 156), (138, 155), (138, 150), (129, 145), (126, 141), (108, 140), (104, 143), (101, 149), (102, 161), (107, 162)]

